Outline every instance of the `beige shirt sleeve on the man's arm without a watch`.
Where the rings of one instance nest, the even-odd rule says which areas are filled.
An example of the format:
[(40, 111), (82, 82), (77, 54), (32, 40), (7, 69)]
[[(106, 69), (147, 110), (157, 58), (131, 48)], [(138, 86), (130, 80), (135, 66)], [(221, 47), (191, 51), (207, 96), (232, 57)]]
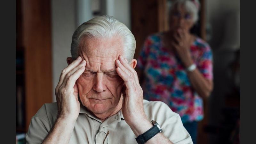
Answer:
[(44, 106), (40, 108), (36, 115), (31, 118), (28, 132), (26, 134), (27, 144), (41, 144), (51, 130), (51, 124), (49, 123), (48, 119), (41, 116), (46, 116)]

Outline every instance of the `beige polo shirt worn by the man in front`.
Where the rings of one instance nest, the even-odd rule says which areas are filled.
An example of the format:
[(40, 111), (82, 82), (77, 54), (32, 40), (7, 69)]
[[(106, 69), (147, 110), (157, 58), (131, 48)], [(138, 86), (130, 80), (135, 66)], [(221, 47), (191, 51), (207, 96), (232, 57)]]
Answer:
[[(179, 114), (174, 113), (165, 103), (144, 100), (144, 110), (148, 119), (155, 120), (163, 129), (164, 135), (173, 143), (193, 143), (181, 122)], [(57, 103), (44, 104), (31, 119), (26, 134), (27, 143), (42, 143), (56, 119)], [(108, 131), (109, 134), (106, 137)], [(124, 120), (122, 111), (101, 122), (84, 106), (81, 106), (69, 143), (102, 144), (105, 139), (104, 144), (136, 144), (135, 138), (132, 129)]]

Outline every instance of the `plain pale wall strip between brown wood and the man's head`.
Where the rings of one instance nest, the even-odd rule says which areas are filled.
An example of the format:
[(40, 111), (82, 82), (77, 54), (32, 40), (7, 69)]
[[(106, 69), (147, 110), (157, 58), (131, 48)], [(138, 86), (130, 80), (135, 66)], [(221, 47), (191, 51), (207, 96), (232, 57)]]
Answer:
[(76, 29), (75, 1), (52, 0), (52, 81), (53, 102), (55, 87), (62, 69), (68, 66), (66, 58), (71, 56), (71, 38)]

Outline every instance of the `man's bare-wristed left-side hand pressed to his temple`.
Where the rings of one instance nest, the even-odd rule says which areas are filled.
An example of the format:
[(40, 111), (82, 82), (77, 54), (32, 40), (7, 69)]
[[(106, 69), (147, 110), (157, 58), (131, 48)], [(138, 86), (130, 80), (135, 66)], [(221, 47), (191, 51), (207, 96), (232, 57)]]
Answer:
[(80, 56), (62, 70), (60, 81), (55, 88), (58, 118), (76, 121), (80, 112), (76, 80), (84, 72), (86, 61)]

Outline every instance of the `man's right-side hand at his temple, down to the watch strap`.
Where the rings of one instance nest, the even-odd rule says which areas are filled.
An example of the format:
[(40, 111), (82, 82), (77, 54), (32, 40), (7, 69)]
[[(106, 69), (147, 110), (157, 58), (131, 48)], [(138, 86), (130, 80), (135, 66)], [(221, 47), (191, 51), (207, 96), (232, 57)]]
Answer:
[[(118, 57), (115, 64), (117, 74), (124, 80), (122, 91), (124, 96), (122, 105), (124, 119), (131, 128), (133, 126), (137, 127), (142, 121), (148, 121), (143, 108), (143, 91), (140, 87), (137, 73), (122, 56)], [(152, 127), (149, 121), (148, 123)], [(137, 132), (134, 133), (136, 135)], [(138, 132), (138, 134), (139, 133), (140, 132)]]

